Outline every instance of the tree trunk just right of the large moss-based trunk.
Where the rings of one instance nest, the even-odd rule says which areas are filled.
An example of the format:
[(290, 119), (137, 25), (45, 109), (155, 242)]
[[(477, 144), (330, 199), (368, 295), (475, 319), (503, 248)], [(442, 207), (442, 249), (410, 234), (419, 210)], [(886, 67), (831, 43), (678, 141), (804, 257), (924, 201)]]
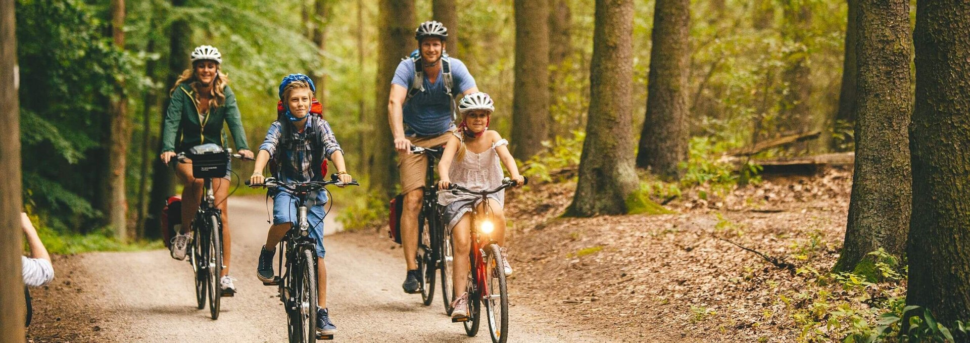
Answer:
[(691, 58), (690, 0), (658, 0), (647, 83), (647, 111), (636, 167), (679, 176), (689, 144), (687, 74)]

